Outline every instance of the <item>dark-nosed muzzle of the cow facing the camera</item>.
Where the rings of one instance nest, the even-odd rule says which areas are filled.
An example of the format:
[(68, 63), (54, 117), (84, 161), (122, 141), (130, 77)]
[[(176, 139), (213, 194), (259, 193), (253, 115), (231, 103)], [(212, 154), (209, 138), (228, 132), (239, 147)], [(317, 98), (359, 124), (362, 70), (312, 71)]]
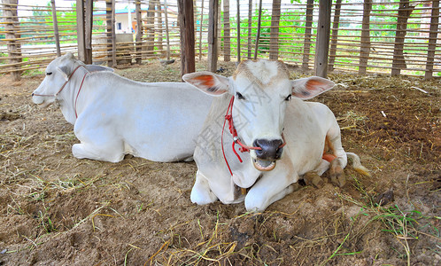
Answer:
[(276, 160), (282, 157), (283, 140), (282, 139), (256, 139), (253, 146), (259, 147), (259, 150), (254, 150), (256, 158), (252, 158), (252, 163), (259, 171), (271, 171), (275, 168)]

